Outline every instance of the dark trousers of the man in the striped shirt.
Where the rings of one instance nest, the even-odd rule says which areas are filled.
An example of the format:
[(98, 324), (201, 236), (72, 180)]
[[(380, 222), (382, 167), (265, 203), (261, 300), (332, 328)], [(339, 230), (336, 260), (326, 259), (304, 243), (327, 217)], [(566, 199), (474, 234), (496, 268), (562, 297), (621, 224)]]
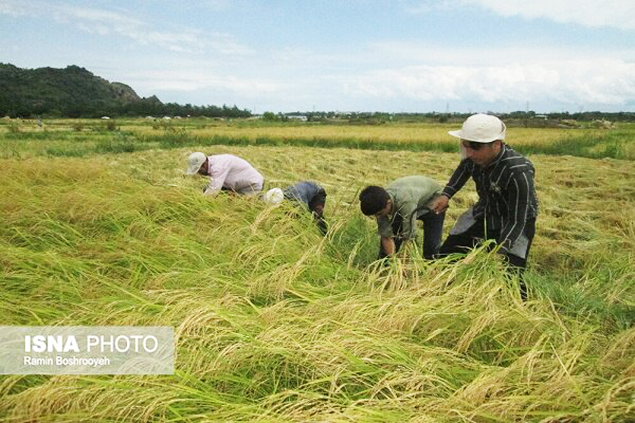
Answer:
[[(520, 278), (520, 294), (523, 299), (526, 299), (526, 287), (522, 278), (522, 273), (527, 266), (527, 257), (529, 257), (529, 249), (533, 241), (533, 236), (536, 234), (536, 218), (528, 219), (524, 228), (524, 236), (527, 237), (529, 243), (527, 244), (527, 250), (525, 257), (519, 257), (516, 254), (503, 253), (505, 262), (510, 265), (510, 270), (517, 273)], [(456, 252), (468, 252), (470, 248), (474, 248), (482, 241), (489, 239), (498, 239), (501, 235), (500, 229), (485, 228), (484, 218), (480, 217), (476, 222), (461, 234), (449, 235), (445, 238), (443, 245), (439, 250), (437, 257), (445, 257), (449, 254)]]

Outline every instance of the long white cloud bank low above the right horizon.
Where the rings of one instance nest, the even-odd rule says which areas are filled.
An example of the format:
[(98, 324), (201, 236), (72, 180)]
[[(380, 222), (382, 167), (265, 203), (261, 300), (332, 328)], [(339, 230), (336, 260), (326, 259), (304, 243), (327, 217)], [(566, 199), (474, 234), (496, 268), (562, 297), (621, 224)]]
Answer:
[(613, 59), (503, 66), (408, 66), (343, 78), (349, 95), (486, 103), (557, 101), (623, 105), (635, 98), (635, 64)]

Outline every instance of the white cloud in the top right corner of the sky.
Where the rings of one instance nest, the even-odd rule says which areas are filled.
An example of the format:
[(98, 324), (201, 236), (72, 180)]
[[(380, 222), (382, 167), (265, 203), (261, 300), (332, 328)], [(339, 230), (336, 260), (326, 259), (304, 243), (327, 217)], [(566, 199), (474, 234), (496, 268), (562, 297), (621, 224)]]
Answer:
[(462, 3), (487, 8), (502, 16), (543, 17), (585, 27), (635, 29), (633, 0), (462, 0)]

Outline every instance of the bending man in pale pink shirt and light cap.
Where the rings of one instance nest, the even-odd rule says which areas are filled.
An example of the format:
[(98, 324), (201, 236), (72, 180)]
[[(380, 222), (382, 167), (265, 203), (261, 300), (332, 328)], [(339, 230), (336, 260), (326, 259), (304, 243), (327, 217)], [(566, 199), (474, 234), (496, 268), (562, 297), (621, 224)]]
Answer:
[(193, 152), (188, 157), (188, 175), (210, 177), (205, 194), (214, 195), (224, 190), (237, 194), (253, 195), (263, 189), (265, 178), (244, 159), (235, 155), (206, 156)]

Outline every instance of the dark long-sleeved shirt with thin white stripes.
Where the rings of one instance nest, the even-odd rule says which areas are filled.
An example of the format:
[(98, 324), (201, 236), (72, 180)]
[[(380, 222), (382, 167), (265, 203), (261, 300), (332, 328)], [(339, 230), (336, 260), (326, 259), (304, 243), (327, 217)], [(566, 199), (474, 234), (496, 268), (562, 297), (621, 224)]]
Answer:
[(534, 173), (529, 160), (503, 143), (496, 159), (484, 169), (463, 159), (442, 194), (452, 198), (471, 176), (479, 197), (473, 216), (484, 217), (489, 229), (499, 229), (501, 235), (496, 241), (510, 250), (523, 233), (526, 220), (538, 215)]

